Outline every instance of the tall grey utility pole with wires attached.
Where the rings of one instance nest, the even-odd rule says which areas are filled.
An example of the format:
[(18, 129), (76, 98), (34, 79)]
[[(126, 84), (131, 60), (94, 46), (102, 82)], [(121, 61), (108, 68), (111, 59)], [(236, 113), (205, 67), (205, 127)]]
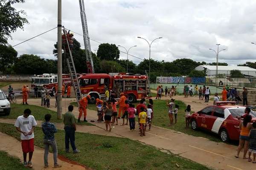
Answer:
[(62, 43), (61, 43), (61, 0), (58, 0), (58, 96), (57, 118), (62, 119)]

